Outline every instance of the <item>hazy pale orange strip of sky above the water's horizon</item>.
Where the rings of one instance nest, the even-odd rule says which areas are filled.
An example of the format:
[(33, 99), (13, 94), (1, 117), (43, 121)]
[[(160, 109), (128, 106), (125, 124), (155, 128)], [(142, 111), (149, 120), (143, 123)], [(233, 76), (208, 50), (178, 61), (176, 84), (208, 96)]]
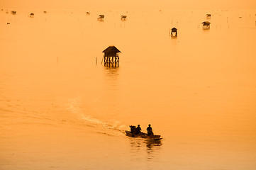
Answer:
[(238, 10), (238, 9), (256, 9), (256, 1), (17, 1), (2, 0), (0, 8), (19, 8), (19, 9), (106, 9), (106, 10), (117, 10), (117, 9), (150, 9), (150, 10), (208, 10), (208, 9), (219, 9), (219, 10)]

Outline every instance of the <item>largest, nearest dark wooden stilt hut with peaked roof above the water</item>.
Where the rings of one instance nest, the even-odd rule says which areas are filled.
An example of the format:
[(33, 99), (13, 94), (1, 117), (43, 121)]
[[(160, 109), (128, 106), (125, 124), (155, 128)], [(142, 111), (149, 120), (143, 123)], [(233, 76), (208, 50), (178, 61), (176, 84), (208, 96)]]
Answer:
[(115, 46), (109, 46), (104, 51), (104, 65), (105, 66), (118, 66), (119, 56), (118, 53), (121, 52)]

